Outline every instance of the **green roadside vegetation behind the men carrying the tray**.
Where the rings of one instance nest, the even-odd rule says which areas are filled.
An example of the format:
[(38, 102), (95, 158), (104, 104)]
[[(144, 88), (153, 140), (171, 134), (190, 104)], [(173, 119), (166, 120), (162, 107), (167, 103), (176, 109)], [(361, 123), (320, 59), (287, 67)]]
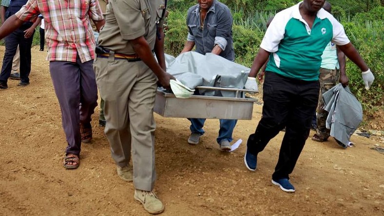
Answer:
[[(294, 5), (299, 0), (220, 0), (227, 4), (233, 16), (233, 47), (236, 62), (250, 67), (259, 50), (266, 29), (265, 23), (276, 12)], [(166, 53), (177, 56), (183, 49), (188, 29), (187, 10), (196, 0), (169, 0)], [(384, 1), (383, 0), (329, 0), (335, 18), (344, 25), (346, 34), (363, 56), (375, 75), (367, 91), (361, 71), (349, 59), (346, 72), (349, 87), (362, 103), (365, 120), (374, 118), (384, 108)]]

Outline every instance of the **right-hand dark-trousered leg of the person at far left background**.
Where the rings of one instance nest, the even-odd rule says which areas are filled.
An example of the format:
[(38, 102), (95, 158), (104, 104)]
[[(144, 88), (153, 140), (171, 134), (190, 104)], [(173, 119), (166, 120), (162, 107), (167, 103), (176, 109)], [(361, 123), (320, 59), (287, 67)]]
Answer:
[(29, 84), (29, 73), (31, 72), (31, 47), (33, 36), (25, 38), (20, 35), (19, 49), (20, 49), (20, 84)]

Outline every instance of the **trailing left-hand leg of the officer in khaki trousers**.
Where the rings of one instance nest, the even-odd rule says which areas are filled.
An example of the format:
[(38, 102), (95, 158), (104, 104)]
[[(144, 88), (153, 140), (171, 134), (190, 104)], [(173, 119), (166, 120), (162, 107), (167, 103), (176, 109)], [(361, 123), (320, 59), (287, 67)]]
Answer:
[(104, 99), (107, 120), (104, 132), (111, 146), (112, 158), (117, 166), (127, 167), (131, 160), (128, 98), (134, 84), (134, 70), (127, 61), (114, 58), (96, 58), (93, 67), (100, 97)]

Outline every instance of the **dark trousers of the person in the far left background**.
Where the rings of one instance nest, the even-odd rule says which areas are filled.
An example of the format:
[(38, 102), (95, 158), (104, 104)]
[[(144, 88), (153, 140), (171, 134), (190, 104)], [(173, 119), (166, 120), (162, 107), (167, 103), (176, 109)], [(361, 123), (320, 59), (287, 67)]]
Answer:
[(29, 73), (31, 72), (31, 46), (33, 35), (25, 38), (24, 31), (26, 29), (17, 29), (10, 35), (5, 37), (5, 53), (2, 60), (0, 73), (0, 82), (7, 83), (11, 75), (13, 57), (19, 45), (20, 51), (20, 81), (29, 82)]

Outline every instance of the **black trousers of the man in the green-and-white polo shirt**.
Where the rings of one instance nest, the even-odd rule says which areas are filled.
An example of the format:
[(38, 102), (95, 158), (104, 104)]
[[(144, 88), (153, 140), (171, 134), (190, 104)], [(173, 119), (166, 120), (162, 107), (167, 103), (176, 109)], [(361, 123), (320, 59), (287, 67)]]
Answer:
[(255, 133), (248, 138), (251, 154), (263, 151), (281, 129), (286, 132), (280, 148), (273, 180), (289, 179), (289, 174), (303, 150), (317, 107), (320, 84), (266, 72), (263, 87), (263, 117)]

